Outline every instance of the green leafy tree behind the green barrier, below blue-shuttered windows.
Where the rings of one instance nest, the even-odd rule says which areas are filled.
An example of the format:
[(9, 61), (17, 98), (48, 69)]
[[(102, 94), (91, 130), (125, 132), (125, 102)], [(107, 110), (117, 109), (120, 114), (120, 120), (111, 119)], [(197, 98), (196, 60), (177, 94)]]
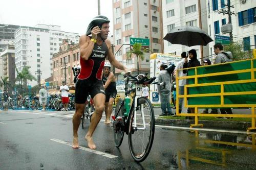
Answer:
[(253, 58), (251, 50), (243, 51), (244, 45), (245, 44), (243, 44), (241, 41), (233, 42), (231, 44), (224, 45), (224, 51), (232, 53), (233, 61)]

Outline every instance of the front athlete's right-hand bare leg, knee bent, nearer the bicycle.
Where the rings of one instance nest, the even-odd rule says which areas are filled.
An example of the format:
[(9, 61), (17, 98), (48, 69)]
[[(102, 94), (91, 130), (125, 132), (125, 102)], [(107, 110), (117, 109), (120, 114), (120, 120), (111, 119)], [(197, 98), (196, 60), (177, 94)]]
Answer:
[(93, 142), (93, 132), (95, 131), (102, 117), (102, 112), (104, 110), (104, 103), (105, 103), (105, 94), (102, 94), (102, 93), (96, 94), (93, 98), (93, 103), (94, 103), (95, 111), (91, 117), (91, 124), (90, 124), (89, 130), (86, 136), (84, 136), (84, 138), (88, 142), (88, 147), (90, 149), (96, 149), (96, 145)]

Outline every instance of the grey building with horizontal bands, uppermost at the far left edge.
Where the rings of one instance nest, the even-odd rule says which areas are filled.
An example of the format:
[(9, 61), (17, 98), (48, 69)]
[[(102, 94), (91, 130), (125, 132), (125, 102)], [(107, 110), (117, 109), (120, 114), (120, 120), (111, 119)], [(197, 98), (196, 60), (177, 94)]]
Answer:
[(8, 44), (14, 44), (14, 32), (19, 28), (16, 25), (0, 24), (0, 53)]

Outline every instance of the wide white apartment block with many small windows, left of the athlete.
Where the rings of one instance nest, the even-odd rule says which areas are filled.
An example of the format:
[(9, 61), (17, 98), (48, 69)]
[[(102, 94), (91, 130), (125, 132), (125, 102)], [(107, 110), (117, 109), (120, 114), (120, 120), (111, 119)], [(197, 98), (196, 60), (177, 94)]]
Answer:
[[(26, 65), (31, 66), (30, 72), (35, 75), (39, 69), (41, 79), (52, 76), (52, 55), (59, 52), (62, 39), (78, 42), (77, 33), (60, 31), (60, 26), (36, 25), (36, 27), (20, 27), (15, 32), (15, 64), (19, 71)], [(37, 84), (36, 81), (29, 82)]]

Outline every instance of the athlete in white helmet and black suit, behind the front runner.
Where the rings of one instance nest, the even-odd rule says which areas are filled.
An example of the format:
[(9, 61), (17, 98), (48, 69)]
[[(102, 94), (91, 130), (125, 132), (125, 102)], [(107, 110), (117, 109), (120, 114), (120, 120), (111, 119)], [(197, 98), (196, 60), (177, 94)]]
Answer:
[(110, 124), (110, 116), (113, 111), (113, 103), (116, 98), (117, 90), (116, 90), (116, 79), (113, 72), (110, 71), (111, 64), (110, 62), (106, 61), (103, 68), (103, 75), (102, 75), (102, 82), (103, 87), (106, 93), (106, 100), (105, 100), (105, 124)]

